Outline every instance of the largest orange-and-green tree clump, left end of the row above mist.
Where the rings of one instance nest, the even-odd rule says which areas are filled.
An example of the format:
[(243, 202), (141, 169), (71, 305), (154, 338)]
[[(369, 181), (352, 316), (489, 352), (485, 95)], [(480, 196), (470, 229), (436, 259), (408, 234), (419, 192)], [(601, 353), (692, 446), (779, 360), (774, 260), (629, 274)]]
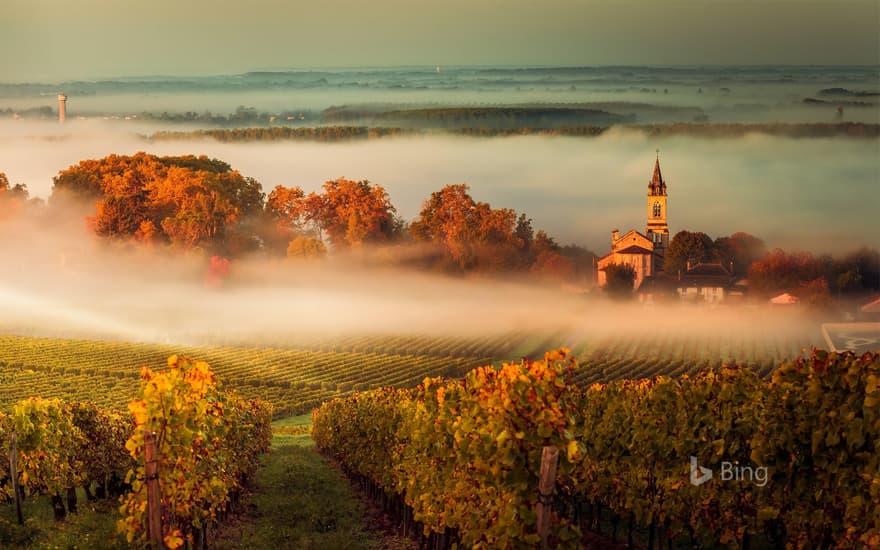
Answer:
[(53, 201), (94, 204), (89, 224), (111, 238), (235, 248), (255, 242), (248, 221), (263, 210), (259, 182), (205, 156), (110, 155), (71, 166), (54, 181)]

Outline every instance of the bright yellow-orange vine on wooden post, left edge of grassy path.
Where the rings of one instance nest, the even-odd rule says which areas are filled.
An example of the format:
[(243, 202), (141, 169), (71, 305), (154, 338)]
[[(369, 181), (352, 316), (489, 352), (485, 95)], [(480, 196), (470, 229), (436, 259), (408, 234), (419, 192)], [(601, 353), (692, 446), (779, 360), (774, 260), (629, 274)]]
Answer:
[(119, 532), (146, 544), (144, 436), (157, 438), (162, 497), (162, 538), (167, 548), (190, 545), (224, 513), (269, 448), (272, 408), (223, 391), (207, 363), (168, 359), (168, 369), (141, 374), (138, 399), (129, 404), (134, 431), (125, 443), (136, 466), (131, 492), (119, 511)]

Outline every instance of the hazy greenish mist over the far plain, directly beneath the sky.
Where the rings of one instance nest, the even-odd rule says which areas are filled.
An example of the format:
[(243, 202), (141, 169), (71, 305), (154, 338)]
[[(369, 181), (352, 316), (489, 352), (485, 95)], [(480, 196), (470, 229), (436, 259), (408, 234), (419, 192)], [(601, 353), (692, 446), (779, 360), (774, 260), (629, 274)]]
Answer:
[[(227, 114), (244, 106), (260, 113), (305, 114), (313, 124), (322, 110), (352, 104), (405, 109), (613, 103), (609, 108), (618, 114), (642, 104), (694, 109), (713, 122), (831, 122), (843, 107), (846, 120), (876, 123), (878, 86), (880, 73), (870, 66), (422, 66), (0, 82), (0, 109), (54, 108), (55, 94), (64, 92), (72, 116)], [(641, 111), (638, 122), (658, 122), (656, 115)], [(660, 121), (688, 122), (694, 116), (667, 113)]]

